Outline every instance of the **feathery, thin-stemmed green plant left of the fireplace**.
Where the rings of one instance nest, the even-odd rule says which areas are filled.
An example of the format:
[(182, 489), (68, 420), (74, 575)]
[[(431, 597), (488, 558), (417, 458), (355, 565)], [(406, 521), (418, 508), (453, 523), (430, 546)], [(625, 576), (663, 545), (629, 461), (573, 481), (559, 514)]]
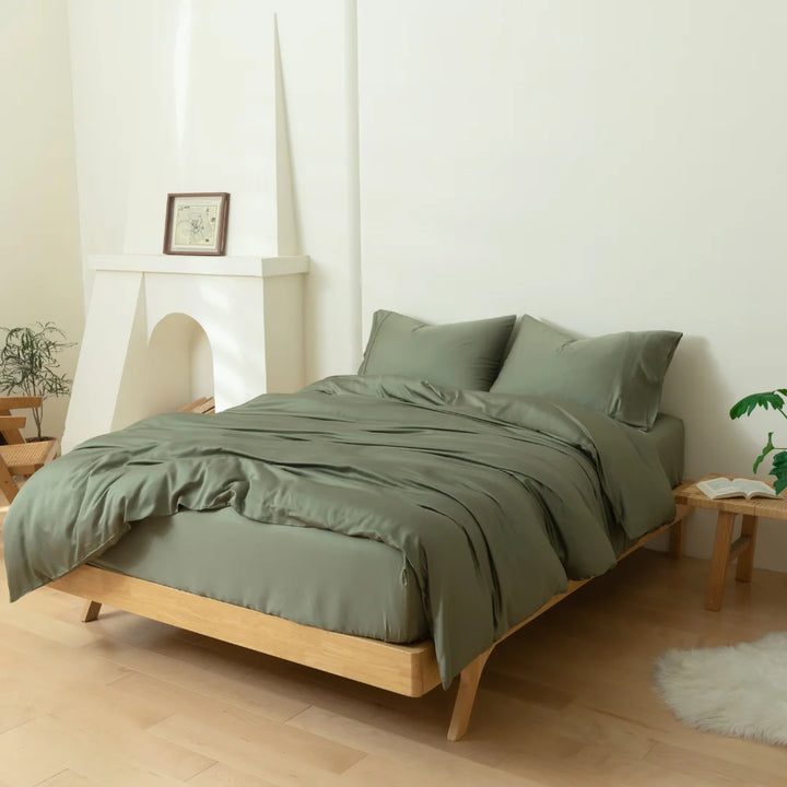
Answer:
[(42, 406), (33, 408), (34, 439), (51, 439), (42, 436), (44, 401), (70, 392), (71, 380), (58, 371), (58, 355), (66, 348), (73, 346), (73, 342), (62, 341), (66, 334), (54, 322), (0, 330), (5, 331), (5, 343), (0, 350), (0, 391), (40, 397)]

